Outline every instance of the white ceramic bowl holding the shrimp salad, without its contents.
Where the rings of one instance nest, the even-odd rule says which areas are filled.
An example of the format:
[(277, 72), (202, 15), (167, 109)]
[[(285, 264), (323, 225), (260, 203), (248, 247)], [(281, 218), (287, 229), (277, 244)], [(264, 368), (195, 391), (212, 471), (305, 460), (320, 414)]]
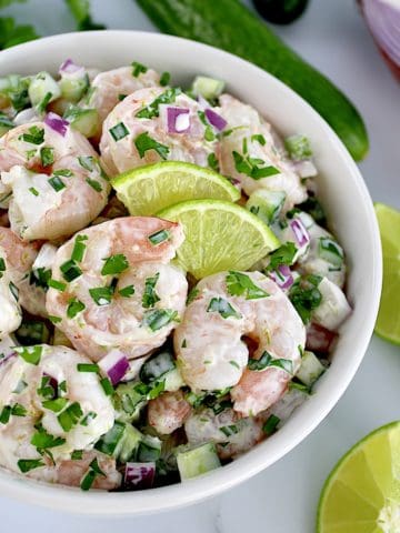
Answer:
[(353, 313), (341, 329), (332, 365), (318, 392), (273, 436), (249, 453), (197, 480), (128, 493), (82, 493), (39, 484), (0, 471), (0, 494), (63, 511), (139, 514), (198, 502), (224, 491), (278, 461), (329, 413), (348, 388), (367, 350), (381, 289), (381, 250), (372, 202), (358, 168), (330, 127), (300, 97), (261, 69), (220, 50), (157, 33), (106, 31), (50, 37), (1, 52), (0, 76), (57, 72), (66, 58), (101, 70), (138, 60), (189, 84), (196, 74), (217, 77), (227, 89), (254, 105), (278, 131), (310, 138), (320, 171), (319, 195), (330, 228), (347, 253), (348, 298)]

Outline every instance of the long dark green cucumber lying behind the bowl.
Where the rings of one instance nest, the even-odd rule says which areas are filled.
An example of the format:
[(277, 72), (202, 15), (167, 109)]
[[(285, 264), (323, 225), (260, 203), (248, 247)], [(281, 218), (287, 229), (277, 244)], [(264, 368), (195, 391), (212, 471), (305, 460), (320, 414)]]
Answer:
[(238, 0), (137, 2), (164, 33), (221, 48), (280, 79), (326, 119), (356, 161), (366, 157), (368, 134), (352, 103)]

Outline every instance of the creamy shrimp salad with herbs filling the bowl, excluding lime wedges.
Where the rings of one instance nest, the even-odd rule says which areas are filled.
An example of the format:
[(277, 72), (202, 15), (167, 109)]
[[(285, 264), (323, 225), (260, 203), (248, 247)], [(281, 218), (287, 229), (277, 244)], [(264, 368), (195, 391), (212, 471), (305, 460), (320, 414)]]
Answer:
[[(236, 460), (318, 394), (351, 312), (344, 252), (308, 139), (223, 89), (136, 61), (0, 79), (2, 469), (161, 486)], [(219, 172), (280, 245), (193, 279), (182, 224), (130, 215), (111, 187), (166, 160)]]

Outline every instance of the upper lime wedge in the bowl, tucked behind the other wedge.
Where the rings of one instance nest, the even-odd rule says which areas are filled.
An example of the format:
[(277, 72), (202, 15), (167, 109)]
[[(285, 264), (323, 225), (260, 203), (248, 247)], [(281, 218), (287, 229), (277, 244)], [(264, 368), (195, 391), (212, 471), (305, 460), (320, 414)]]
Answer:
[(149, 215), (186, 200), (211, 198), (236, 202), (240, 192), (212, 170), (166, 161), (129, 170), (112, 180), (130, 214)]

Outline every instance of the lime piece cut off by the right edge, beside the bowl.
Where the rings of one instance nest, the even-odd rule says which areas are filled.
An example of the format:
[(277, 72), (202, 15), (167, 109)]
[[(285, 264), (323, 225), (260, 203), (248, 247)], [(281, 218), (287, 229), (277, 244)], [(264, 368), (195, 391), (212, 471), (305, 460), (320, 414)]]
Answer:
[(400, 212), (376, 204), (382, 241), (383, 286), (376, 333), (400, 344)]

